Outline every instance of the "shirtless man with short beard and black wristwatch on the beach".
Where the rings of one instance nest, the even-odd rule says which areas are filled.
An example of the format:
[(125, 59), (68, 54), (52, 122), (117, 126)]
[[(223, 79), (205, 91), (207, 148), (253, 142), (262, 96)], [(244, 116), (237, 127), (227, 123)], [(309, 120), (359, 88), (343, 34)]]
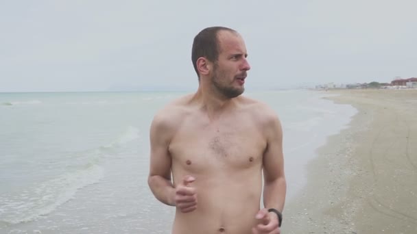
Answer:
[(206, 28), (191, 57), (197, 92), (160, 110), (150, 129), (148, 183), (176, 207), (172, 233), (281, 233), (281, 123), (265, 104), (241, 96), (250, 70), (243, 39), (233, 29)]

